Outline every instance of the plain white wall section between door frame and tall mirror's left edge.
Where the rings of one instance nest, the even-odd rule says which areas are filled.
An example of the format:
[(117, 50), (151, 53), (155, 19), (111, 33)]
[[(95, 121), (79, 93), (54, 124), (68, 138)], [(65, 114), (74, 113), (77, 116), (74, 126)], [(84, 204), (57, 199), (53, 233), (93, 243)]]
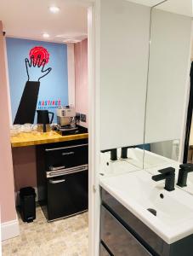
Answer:
[(101, 149), (144, 142), (150, 8), (100, 1)]

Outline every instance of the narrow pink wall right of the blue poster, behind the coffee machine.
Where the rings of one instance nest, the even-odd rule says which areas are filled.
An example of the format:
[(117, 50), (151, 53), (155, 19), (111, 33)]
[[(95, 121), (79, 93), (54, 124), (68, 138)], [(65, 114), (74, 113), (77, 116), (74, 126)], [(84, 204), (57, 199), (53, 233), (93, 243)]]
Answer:
[(75, 106), (78, 113), (87, 115), (88, 127), (88, 40), (75, 44)]

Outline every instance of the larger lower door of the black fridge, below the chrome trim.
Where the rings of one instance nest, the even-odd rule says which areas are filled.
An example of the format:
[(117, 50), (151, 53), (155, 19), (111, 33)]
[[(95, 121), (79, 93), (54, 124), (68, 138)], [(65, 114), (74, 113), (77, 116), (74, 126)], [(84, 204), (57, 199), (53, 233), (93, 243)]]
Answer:
[(48, 178), (48, 220), (88, 209), (88, 170)]

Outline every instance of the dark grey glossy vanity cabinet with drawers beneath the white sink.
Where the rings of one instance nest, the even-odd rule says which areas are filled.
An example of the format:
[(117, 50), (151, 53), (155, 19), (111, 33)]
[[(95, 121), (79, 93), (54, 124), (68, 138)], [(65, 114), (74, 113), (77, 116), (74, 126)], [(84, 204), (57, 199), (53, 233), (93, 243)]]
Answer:
[(100, 256), (192, 256), (193, 235), (167, 244), (105, 189), (101, 199)]

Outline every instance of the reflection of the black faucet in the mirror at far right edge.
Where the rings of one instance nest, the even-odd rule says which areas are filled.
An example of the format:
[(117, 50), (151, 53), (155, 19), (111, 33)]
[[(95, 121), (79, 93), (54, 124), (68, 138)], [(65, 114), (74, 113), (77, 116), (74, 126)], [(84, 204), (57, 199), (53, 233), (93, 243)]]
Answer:
[(179, 168), (179, 178), (177, 185), (183, 188), (187, 186), (188, 173), (193, 172), (193, 164), (180, 165)]

